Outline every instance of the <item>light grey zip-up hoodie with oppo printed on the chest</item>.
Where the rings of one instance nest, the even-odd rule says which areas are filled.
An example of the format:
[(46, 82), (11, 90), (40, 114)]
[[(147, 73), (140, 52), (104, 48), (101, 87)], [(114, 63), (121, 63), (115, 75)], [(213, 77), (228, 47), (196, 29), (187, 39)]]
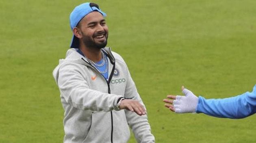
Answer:
[(154, 143), (146, 115), (117, 109), (120, 97), (143, 102), (124, 60), (110, 48), (105, 78), (76, 49), (67, 50), (53, 76), (61, 93), (64, 143), (126, 143), (132, 129), (138, 143)]

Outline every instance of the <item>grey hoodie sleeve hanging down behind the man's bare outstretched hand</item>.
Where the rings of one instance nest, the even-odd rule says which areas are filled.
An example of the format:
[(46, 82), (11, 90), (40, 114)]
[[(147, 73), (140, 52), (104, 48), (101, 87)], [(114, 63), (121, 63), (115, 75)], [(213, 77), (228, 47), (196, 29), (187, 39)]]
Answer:
[[(127, 68), (127, 66), (126, 66)], [(139, 96), (139, 93), (137, 92), (137, 88), (135, 86), (135, 83), (133, 82), (130, 72), (127, 68), (127, 85), (125, 89), (125, 95), (126, 98), (134, 97), (134, 100), (139, 101), (144, 107), (141, 97)], [(132, 132), (135, 135), (135, 138), (138, 143), (154, 143), (155, 139), (154, 136), (151, 134), (151, 128), (150, 124), (148, 122), (147, 115), (139, 116), (135, 112), (125, 110), (126, 113), (126, 120), (132, 129)]]

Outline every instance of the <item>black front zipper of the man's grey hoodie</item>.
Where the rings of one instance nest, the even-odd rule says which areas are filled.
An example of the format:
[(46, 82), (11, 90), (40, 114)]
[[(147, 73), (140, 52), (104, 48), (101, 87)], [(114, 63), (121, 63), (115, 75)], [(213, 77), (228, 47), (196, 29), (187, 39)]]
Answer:
[[(85, 61), (85, 59), (83, 59), (83, 58), (81, 58), (81, 59), (82, 59), (83, 61)], [(112, 63), (111, 59), (109, 59), (109, 60), (110, 60), (110, 62)], [(89, 65), (91, 65), (91, 63), (89, 63), (89, 62), (87, 62), (87, 61), (85, 61), (85, 63), (88, 63)], [(111, 81), (111, 79), (112, 79), (112, 77), (113, 77), (113, 74), (114, 74), (114, 70), (115, 70), (115, 61), (114, 61), (112, 64), (113, 64), (113, 68), (112, 68), (111, 73), (110, 73), (110, 75), (109, 75), (109, 77), (108, 77), (108, 80), (106, 80), (106, 78), (104, 78), (104, 76), (103, 76), (102, 74), (100, 74), (100, 72), (99, 72), (95, 67), (93, 67), (93, 65), (91, 65), (91, 67), (93, 67), (93, 69), (95, 69), (96, 72), (98, 72), (101, 76), (103, 76), (103, 78), (105, 79), (106, 83), (108, 84), (108, 94), (111, 94), (111, 90), (110, 90), (110, 85), (109, 85), (109, 83), (110, 83), (110, 81)], [(110, 111), (110, 114), (111, 114), (111, 143), (113, 143), (113, 113), (112, 113), (112, 111)]]

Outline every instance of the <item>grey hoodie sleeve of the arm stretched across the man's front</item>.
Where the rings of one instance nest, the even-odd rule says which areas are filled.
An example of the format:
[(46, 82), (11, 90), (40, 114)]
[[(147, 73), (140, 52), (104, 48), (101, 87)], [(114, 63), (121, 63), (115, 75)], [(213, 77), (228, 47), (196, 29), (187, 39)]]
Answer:
[[(67, 63), (62, 65), (54, 76), (65, 101), (82, 110), (113, 110), (117, 99), (122, 96), (90, 89), (87, 81), (82, 76), (82, 71), (84, 71), (82, 67), (75, 63)], [(56, 73), (56, 71), (54, 72)]]

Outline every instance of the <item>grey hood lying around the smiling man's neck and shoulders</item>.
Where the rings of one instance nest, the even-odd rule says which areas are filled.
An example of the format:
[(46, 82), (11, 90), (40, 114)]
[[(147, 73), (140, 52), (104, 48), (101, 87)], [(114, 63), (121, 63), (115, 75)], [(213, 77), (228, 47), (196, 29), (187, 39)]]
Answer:
[[(112, 64), (115, 63), (115, 58), (113, 57), (113, 55), (111, 53), (110, 47), (102, 48), (102, 50), (106, 53), (106, 55), (110, 59), (111, 63)], [(76, 63), (79, 65), (85, 65), (85, 66), (91, 67), (91, 65), (89, 64), (87, 59), (77, 52), (77, 48), (70, 48), (69, 50), (67, 50), (66, 58), (60, 59), (59, 65), (57, 65), (52, 72), (53, 77), (57, 84), (58, 84), (58, 77), (59, 77), (59, 69), (66, 63)]]

